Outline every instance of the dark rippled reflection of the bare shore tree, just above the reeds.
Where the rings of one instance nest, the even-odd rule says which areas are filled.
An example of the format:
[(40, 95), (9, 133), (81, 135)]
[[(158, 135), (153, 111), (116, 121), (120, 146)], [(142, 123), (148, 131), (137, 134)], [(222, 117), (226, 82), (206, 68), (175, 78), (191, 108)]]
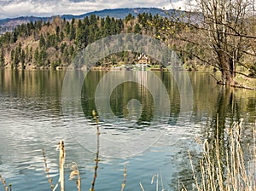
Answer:
[[(224, 144), (224, 129), (230, 127), (234, 122), (238, 122), (241, 118), (247, 117), (246, 114), (254, 116), (256, 114), (256, 97), (247, 97), (247, 92), (242, 90), (235, 90), (233, 88), (221, 88), (218, 91), (218, 97), (215, 103), (215, 111), (212, 113), (212, 119), (207, 127), (212, 131), (210, 138), (214, 140), (216, 138), (216, 126), (218, 115), (218, 138), (221, 144)], [(254, 110), (250, 110), (250, 108)], [(250, 122), (250, 120), (249, 120)], [(252, 120), (252, 123), (254, 121)], [(244, 124), (243, 130), (249, 128), (250, 125)], [(207, 136), (209, 137), (209, 135)], [(221, 148), (221, 147), (220, 147)], [(225, 146), (223, 145), (223, 150)]]

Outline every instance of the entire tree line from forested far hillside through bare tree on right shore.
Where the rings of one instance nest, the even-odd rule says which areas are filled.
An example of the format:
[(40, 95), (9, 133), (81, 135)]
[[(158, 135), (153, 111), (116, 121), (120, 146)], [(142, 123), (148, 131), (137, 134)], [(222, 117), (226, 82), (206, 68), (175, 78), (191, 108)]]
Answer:
[[(177, 51), (189, 68), (215, 67), (222, 72), (222, 84), (236, 84), (236, 67), (256, 78), (255, 9), (253, 0), (196, 1), (197, 11), (128, 14), (125, 19), (95, 14), (83, 20), (38, 20), (22, 24), (0, 37), (0, 67), (67, 67), (88, 44), (119, 33), (139, 33), (159, 38)], [(137, 53), (109, 55), (98, 66), (123, 61), (132, 63)]]

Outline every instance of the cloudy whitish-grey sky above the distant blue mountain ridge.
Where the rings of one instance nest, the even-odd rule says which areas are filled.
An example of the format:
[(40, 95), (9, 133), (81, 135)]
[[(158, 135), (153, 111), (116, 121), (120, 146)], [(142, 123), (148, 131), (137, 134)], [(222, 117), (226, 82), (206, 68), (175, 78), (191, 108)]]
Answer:
[(0, 0), (0, 19), (18, 16), (85, 14), (117, 8), (185, 9), (185, 0)]

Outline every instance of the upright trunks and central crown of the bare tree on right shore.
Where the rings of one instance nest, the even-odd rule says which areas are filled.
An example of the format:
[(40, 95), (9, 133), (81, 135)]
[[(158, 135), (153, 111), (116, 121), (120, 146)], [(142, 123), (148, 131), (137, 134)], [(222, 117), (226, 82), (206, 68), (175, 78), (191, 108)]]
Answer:
[(250, 0), (196, 0), (203, 19), (202, 29), (207, 31), (207, 46), (222, 72), (222, 82), (234, 85), (236, 66), (244, 54), (254, 54), (248, 41), (250, 25), (255, 25), (253, 1)]

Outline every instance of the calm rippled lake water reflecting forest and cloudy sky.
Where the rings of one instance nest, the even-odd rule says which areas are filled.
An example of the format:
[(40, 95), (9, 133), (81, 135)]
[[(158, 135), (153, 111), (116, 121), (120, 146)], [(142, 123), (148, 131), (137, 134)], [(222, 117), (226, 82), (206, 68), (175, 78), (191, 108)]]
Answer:
[[(195, 138), (203, 141), (214, 136), (217, 113), (221, 132), (243, 118), (242, 142), (253, 142), (255, 91), (220, 87), (209, 73), (190, 72), (194, 94), (193, 107), (188, 111), (182, 109), (184, 102), (172, 75), (155, 72), (166, 87), (171, 109), (167, 117), (157, 116), (154, 119), (156, 108), (164, 108), (166, 103), (154, 104), (157, 98), (143, 85), (150, 84), (152, 80), (148, 72), (132, 73), (142, 83), (125, 82), (116, 86), (108, 96), (112, 113), (105, 113), (105, 105), (108, 104), (96, 99), (101, 95), (104, 97), (107, 90), (96, 94), (96, 88), (100, 83), (108, 88), (109, 81), (102, 80), (105, 72), (90, 72), (82, 89), (82, 110), (76, 113), (72, 108), (68, 111), (73, 112), (63, 110), (61, 90), (65, 72), (1, 70), (0, 174), (13, 184), (13, 190), (50, 189), (42, 148), (47, 156), (49, 176), (54, 184), (58, 181), (59, 158), (55, 148), (61, 139), (66, 144), (66, 164), (76, 162), (79, 165), (82, 190), (89, 190), (96, 150), (92, 110), (105, 114), (100, 115), (102, 156), (96, 190), (120, 190), (125, 165), (126, 190), (141, 190), (140, 182), (145, 189), (155, 190), (155, 182), (151, 185), (151, 178), (156, 174), (162, 177), (166, 190), (177, 190), (178, 182), (191, 186), (193, 181), (187, 151), (190, 150), (195, 158), (200, 154), (201, 146)], [(183, 80), (182, 74), (177, 71), (177, 78)], [(123, 76), (123, 72), (115, 72), (115, 78), (110, 82), (114, 83)], [(155, 87), (156, 90), (158, 88)], [(189, 100), (189, 97), (183, 99)], [(178, 142), (173, 142), (174, 139)], [(67, 190), (75, 190), (75, 181), (68, 181), (70, 170), (66, 168), (65, 172)]]

